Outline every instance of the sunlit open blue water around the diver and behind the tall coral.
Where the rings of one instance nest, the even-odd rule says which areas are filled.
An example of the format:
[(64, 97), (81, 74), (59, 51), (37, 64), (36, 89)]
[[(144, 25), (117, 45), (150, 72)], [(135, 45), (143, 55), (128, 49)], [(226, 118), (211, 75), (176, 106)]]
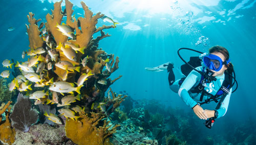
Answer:
[[(28, 12), (33, 12), (36, 19), (41, 18), (41, 21), (46, 22), (45, 15), (51, 13), (50, 10), (53, 9), (53, 3), (42, 2), (1, 1), (1, 62), (11, 58), (15, 61), (22, 60), (22, 51), (29, 49), (25, 26), (25, 23), (28, 24)], [(73, 8), (75, 13), (83, 14), (78, 1), (71, 2), (76, 5)], [(111, 86), (114, 91), (125, 90), (135, 100), (155, 99), (162, 105), (178, 106), (193, 113), (176, 93), (170, 91), (166, 71), (146, 71), (144, 67), (155, 67), (172, 61), (175, 64), (174, 72), (178, 79), (181, 77), (178, 69), (183, 64), (177, 55), (180, 47), (207, 52), (211, 46), (221, 45), (230, 53), (239, 88), (231, 95), (226, 115), (218, 119), (218, 123), (211, 131), (223, 132), (223, 126), (229, 123), (256, 120), (254, 116), (256, 111), (255, 0), (202, 1), (204, 3), (173, 1), (160, 5), (159, 7), (166, 6), (162, 9), (157, 9), (157, 3), (153, 5), (154, 7), (152, 6), (152, 9), (147, 9), (150, 7), (146, 7), (147, 3), (143, 4), (143, 1), (140, 4), (143, 7), (141, 9), (137, 1), (84, 2), (94, 13), (101, 11), (119, 22), (115, 29), (105, 30), (112, 36), (104, 38), (99, 43), (99, 47), (102, 47), (106, 53), (115, 54), (115, 57), (120, 58), (119, 69), (111, 75), (112, 79), (122, 75), (122, 78)], [(47, 10), (44, 11), (44, 8)], [(81, 15), (76, 14), (76, 18), (79, 16)], [(201, 20), (207, 18), (208, 21)], [(102, 25), (111, 25), (111, 23), (99, 19), (97, 26)], [(8, 31), (10, 27), (15, 30)], [(99, 34), (95, 37), (97, 35)], [(201, 36), (208, 39), (196, 44)], [(197, 55), (192, 52), (182, 52), (186, 60), (190, 56)], [(5, 68), (1, 67), (0, 71), (3, 70)], [(202, 125), (202, 128), (205, 127)], [(210, 132), (207, 129), (203, 131)]]

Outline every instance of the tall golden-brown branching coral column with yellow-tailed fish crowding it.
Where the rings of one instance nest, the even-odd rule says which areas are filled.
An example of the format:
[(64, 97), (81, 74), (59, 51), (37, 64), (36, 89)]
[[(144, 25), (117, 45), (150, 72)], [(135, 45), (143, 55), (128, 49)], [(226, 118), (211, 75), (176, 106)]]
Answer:
[[(110, 85), (122, 76), (114, 80), (109, 78), (119, 68), (119, 57), (114, 58), (113, 54), (109, 55), (102, 49), (98, 49), (98, 43), (103, 38), (111, 36), (108, 33), (105, 34), (103, 30), (114, 28), (114, 26), (103, 25), (97, 28), (98, 19), (104, 14), (94, 15), (84, 2), (81, 2), (84, 17), (76, 19), (72, 16), (73, 4), (68, 0), (65, 2), (66, 11), (62, 12), (62, 1), (56, 2), (52, 14), (46, 15), (47, 22), (41, 22), (40, 25), (38, 22), (41, 19), (35, 19), (33, 13), (27, 16), (29, 25), (26, 27), (30, 49), (26, 54), (30, 59), (26, 62), (17, 62), (15, 66), (21, 70), (15, 69), (14, 74), (17, 78), (14, 80), (18, 80), (19, 86), (23, 87), (27, 87), (28, 82), (32, 84), (33, 89), (26, 91), (30, 94), (30, 99), (36, 99), (35, 105), (39, 104), (41, 123), (44, 122), (45, 118), (42, 114), (45, 112), (48, 112), (52, 119), (59, 119), (55, 115), (56, 104), (65, 104), (63, 106), (65, 111), (61, 112), (61, 115), (67, 119), (62, 117), (61, 120), (66, 124), (67, 137), (78, 144), (111, 144), (109, 137), (115, 133), (119, 125), (112, 128), (111, 125), (108, 126), (110, 122), (106, 122), (105, 114), (110, 115), (114, 112), (126, 95), (117, 95), (110, 89), (112, 98), (104, 96)], [(66, 24), (61, 24), (64, 15), (67, 15)], [(97, 32), (100, 36), (94, 39), (93, 35)], [(80, 63), (81, 59), (84, 63)], [(68, 88), (62, 89), (62, 87)], [(55, 91), (55, 95), (45, 93), (49, 89)], [(32, 94), (35, 97), (32, 97)], [(12, 125), (16, 129), (27, 132), (29, 127), (36, 123), (37, 113), (31, 109), (28, 98), (18, 96), (17, 100), (10, 116)], [(23, 102), (23, 106), (19, 102)], [(47, 104), (42, 105), (45, 102)], [(69, 103), (66, 104), (67, 102)], [(91, 107), (94, 105), (95, 107)], [(99, 109), (100, 105), (102, 109)], [(58, 109), (63, 110), (63, 108)], [(49, 124), (52, 123), (49, 122)], [(32, 129), (35, 128), (32, 126)], [(28, 133), (32, 134), (30, 140), (32, 138), (33, 142), (39, 142), (36, 138), (40, 137), (33, 135), (33, 130)], [(22, 133), (19, 132), (19, 134)], [(51, 144), (54, 141), (50, 140), (44, 143)]]

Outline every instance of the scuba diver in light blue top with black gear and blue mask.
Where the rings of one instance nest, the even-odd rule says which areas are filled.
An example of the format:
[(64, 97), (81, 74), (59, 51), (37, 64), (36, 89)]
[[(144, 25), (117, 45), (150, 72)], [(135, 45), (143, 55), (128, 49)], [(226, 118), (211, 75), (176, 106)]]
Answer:
[[(179, 51), (182, 49), (179, 49)], [(195, 51), (192, 49), (186, 50)], [(180, 58), (182, 59), (181, 56)], [(234, 79), (237, 83), (229, 53), (224, 47), (216, 45), (209, 49), (208, 54), (204, 53), (200, 57), (190, 57), (190, 61), (185, 63), (181, 66), (181, 71), (186, 77), (176, 81), (173, 72), (174, 63), (169, 62), (163, 65), (167, 66), (167, 72), (169, 73), (169, 87), (172, 91), (178, 93), (182, 101), (193, 109), (200, 119), (206, 120), (205, 126), (207, 128), (211, 128), (216, 118), (226, 114), (232, 86), (234, 85), (232, 80)], [(232, 74), (234, 74), (234, 77)], [(201, 105), (208, 104), (211, 101), (217, 103), (218, 100), (220, 101), (215, 110), (207, 110), (201, 107)]]

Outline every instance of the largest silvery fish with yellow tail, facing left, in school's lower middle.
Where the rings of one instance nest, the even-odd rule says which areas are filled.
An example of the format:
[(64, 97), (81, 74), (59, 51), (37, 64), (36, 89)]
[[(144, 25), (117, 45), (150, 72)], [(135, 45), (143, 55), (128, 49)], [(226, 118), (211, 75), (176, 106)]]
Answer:
[(76, 91), (80, 94), (80, 88), (82, 86), (75, 87), (73, 83), (68, 83), (64, 81), (58, 81), (54, 82), (50, 85), (49, 89), (52, 91), (56, 91), (64, 95), (63, 93), (73, 93), (73, 91)]

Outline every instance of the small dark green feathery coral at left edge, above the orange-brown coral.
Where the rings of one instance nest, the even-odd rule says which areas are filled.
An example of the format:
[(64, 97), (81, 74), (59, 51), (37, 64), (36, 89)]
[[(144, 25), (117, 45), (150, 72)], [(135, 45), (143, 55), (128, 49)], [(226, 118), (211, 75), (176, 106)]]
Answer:
[(12, 99), (15, 95), (15, 91), (9, 91), (7, 80), (5, 78), (0, 79), (0, 102), (6, 102)]

